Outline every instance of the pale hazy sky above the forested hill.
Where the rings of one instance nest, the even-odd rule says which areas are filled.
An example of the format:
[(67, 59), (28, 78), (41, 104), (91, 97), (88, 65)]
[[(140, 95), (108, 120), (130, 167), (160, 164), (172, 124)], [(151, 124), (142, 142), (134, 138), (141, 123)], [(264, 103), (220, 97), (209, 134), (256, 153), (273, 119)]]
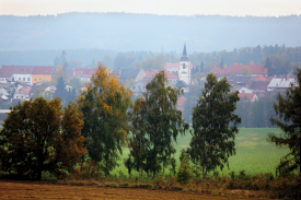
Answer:
[(301, 0), (0, 0), (0, 14), (46, 15), (74, 11), (279, 16), (301, 14)]

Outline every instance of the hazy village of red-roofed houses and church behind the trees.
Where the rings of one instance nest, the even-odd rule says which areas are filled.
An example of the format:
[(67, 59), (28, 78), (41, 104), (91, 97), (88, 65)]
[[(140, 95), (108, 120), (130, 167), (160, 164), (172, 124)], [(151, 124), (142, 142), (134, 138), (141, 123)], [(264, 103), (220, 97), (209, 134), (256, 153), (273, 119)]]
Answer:
[[(160, 72), (141, 68), (109, 69), (119, 77), (119, 82), (125, 84), (134, 96), (142, 96), (146, 85)], [(56, 82), (63, 77), (66, 92), (72, 90), (78, 95), (84, 90), (85, 82), (90, 82), (96, 68), (74, 68), (65, 70), (62, 66), (4, 66), (0, 69), (0, 108), (9, 109), (19, 102), (28, 101), (37, 91), (55, 93)], [(164, 73), (170, 85), (182, 87), (184, 95), (178, 97), (177, 109), (184, 111), (187, 97), (196, 93), (196, 86), (202, 86), (206, 77), (213, 73), (218, 80), (227, 78), (232, 85), (231, 92), (239, 91), (241, 99), (251, 102), (269, 96), (273, 92), (286, 91), (291, 84), (296, 84), (296, 75), (280, 74), (268, 77), (267, 69), (262, 64), (233, 63), (229, 68), (217, 66), (209, 72), (199, 72), (197, 66), (189, 61), (186, 45), (177, 63), (165, 62)], [(78, 82), (77, 87), (71, 86), (72, 81)], [(74, 89), (73, 89), (74, 87)], [(201, 89), (201, 87), (200, 87)], [(200, 91), (197, 91), (200, 92)], [(37, 94), (39, 95), (39, 94)], [(1, 122), (5, 114), (0, 114)]]

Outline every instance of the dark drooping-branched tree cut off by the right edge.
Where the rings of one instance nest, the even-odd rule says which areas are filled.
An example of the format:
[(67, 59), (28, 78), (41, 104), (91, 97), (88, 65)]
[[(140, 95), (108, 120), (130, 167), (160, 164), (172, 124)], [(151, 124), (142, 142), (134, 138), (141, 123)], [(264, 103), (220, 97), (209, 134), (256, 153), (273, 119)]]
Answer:
[(286, 95), (278, 94), (278, 104), (274, 104), (276, 115), (280, 119), (270, 117), (270, 122), (283, 130), (285, 136), (268, 136), (268, 141), (277, 146), (288, 146), (290, 152), (285, 155), (276, 168), (278, 175), (287, 175), (293, 170), (300, 172), (301, 149), (301, 70), (296, 71), (297, 82), (291, 85)]

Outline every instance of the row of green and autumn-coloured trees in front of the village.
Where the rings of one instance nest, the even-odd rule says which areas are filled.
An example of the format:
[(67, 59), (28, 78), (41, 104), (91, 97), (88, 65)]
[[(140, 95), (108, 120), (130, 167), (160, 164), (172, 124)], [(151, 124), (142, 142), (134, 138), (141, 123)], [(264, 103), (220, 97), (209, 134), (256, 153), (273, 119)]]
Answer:
[[(301, 83), (300, 70), (298, 81)], [(240, 98), (238, 91), (230, 92), (230, 87), (225, 78), (218, 81), (209, 74), (193, 107), (189, 128), (182, 111), (176, 109), (183, 90), (170, 86), (164, 71), (132, 103), (131, 92), (118, 82), (118, 77), (100, 64), (77, 104), (70, 102), (63, 110), (59, 97), (51, 101), (38, 97), (11, 108), (0, 132), (0, 169), (5, 175), (33, 179), (42, 179), (43, 172), (63, 178), (69, 173), (81, 172), (92, 161), (108, 176), (127, 146), (130, 153), (124, 164), (129, 174), (137, 170), (141, 176), (144, 173), (155, 177), (167, 167), (175, 174), (174, 143), (180, 134), (189, 132), (192, 141), (182, 151), (178, 174), (185, 174), (190, 161), (206, 178), (217, 167), (229, 167), (229, 157), (235, 155), (234, 139), (241, 118), (234, 111)], [(280, 118), (282, 106), (289, 106), (291, 99), (299, 106), (298, 90), (291, 89), (288, 99), (278, 96), (280, 107), (275, 105), (275, 109)], [(285, 120), (290, 122), (291, 114), (286, 115)], [(299, 125), (298, 119), (292, 119), (294, 125)], [(271, 122), (285, 126), (275, 118)], [(283, 158), (280, 163), (286, 168), (283, 172), (289, 172), (300, 168), (300, 151), (296, 150), (300, 146), (300, 132), (290, 125), (283, 130), (298, 140), (283, 141), (275, 136), (270, 140), (277, 145), (289, 142), (291, 150), (297, 151), (290, 154), (297, 160), (290, 157), (287, 163)]]

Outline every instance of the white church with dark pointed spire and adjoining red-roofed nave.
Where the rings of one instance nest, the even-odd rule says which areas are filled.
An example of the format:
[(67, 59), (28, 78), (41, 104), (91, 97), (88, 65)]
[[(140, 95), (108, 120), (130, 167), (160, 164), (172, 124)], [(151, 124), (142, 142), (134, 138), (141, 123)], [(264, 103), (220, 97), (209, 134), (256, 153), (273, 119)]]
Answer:
[(181, 81), (184, 81), (187, 85), (190, 85), (190, 72), (193, 69), (193, 64), (190, 63), (189, 58), (187, 56), (186, 44), (184, 45), (184, 49), (183, 49), (183, 54), (180, 59), (180, 62), (178, 63), (166, 62), (164, 69), (172, 73), (177, 72), (178, 79)]

